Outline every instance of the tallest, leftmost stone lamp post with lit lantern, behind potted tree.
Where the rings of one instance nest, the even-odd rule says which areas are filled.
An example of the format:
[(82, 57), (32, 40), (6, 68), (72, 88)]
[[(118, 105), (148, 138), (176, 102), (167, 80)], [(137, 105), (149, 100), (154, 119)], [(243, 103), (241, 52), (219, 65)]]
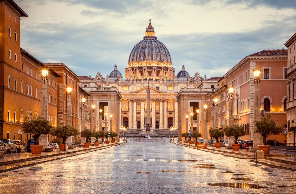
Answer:
[[(42, 74), (42, 88), (41, 88), (41, 112), (40, 116), (44, 119), (48, 119), (48, 98), (47, 98), (47, 75), (48, 75), (48, 69), (41, 70)], [(48, 135), (41, 135), (39, 144), (44, 145), (46, 147), (48, 142)], [(44, 148), (45, 149), (45, 148)]]

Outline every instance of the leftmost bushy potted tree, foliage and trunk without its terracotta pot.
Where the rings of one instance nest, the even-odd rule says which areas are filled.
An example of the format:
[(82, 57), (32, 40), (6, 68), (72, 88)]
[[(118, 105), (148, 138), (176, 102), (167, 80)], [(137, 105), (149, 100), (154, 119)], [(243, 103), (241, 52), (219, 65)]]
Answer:
[(25, 133), (32, 135), (34, 139), (34, 145), (39, 145), (38, 139), (40, 135), (49, 134), (52, 130), (52, 125), (50, 125), (49, 120), (46, 120), (43, 117), (31, 119), (29, 117), (25, 117), (22, 128)]

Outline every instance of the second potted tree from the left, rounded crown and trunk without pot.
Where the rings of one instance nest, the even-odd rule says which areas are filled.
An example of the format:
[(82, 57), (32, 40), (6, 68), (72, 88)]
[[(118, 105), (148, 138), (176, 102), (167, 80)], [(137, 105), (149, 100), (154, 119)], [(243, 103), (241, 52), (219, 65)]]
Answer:
[(51, 134), (53, 136), (57, 136), (63, 139), (62, 144), (66, 143), (66, 139), (68, 137), (72, 137), (78, 135), (78, 130), (70, 125), (58, 125), (57, 127), (52, 129)]

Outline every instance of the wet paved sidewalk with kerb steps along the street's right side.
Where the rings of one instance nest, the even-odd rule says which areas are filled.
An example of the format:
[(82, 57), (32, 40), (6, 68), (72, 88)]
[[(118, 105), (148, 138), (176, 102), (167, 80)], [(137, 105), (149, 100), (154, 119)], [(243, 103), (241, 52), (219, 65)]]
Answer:
[[(193, 149), (197, 149), (197, 146), (194, 144), (186, 145), (180, 142), (173, 142), (175, 144), (179, 144), (181, 146), (192, 147)], [(285, 147), (277, 147), (277, 153), (275, 153), (275, 149), (271, 149), (269, 154), (264, 155), (264, 159), (257, 159), (257, 163), (270, 166), (273, 168), (280, 168), (290, 171), (296, 171), (296, 158), (295, 158), (295, 150), (288, 150), (288, 152), (292, 152), (293, 154), (286, 154)], [(202, 150), (205, 152), (211, 152), (215, 154), (221, 154), (228, 157), (234, 157), (239, 159), (249, 159), (251, 162), (256, 162), (256, 153), (254, 158), (254, 152), (249, 152), (247, 150), (240, 149), (239, 151), (233, 151), (232, 149), (226, 149), (225, 147), (215, 148), (211, 146), (207, 146), (203, 148), (201, 144), (198, 146), (198, 150)]]

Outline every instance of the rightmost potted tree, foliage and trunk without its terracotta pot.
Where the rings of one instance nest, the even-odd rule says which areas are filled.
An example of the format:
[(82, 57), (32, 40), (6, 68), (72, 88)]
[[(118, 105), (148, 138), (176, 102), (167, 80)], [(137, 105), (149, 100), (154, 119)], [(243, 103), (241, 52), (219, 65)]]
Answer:
[(267, 137), (270, 135), (278, 135), (281, 133), (282, 128), (276, 127), (276, 122), (271, 118), (270, 114), (261, 117), (259, 121), (256, 121), (255, 133), (260, 133), (263, 137), (263, 145), (267, 145)]

